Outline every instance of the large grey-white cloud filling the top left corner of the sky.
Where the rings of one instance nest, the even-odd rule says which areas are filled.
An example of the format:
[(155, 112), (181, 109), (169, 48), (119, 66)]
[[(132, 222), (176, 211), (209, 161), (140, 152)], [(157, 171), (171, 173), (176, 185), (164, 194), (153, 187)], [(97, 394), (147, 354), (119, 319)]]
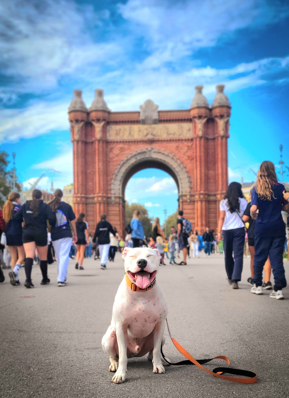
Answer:
[[(94, 64), (119, 55), (119, 43), (93, 41), (89, 19), (101, 25), (107, 15), (70, 0), (4, 2), (1, 5), (0, 62), (2, 73), (17, 76), (18, 92), (55, 88), (62, 75), (80, 75)], [(90, 21), (91, 23), (91, 21)], [(5, 90), (4, 90), (5, 92)], [(12, 95), (12, 93), (11, 93)]]

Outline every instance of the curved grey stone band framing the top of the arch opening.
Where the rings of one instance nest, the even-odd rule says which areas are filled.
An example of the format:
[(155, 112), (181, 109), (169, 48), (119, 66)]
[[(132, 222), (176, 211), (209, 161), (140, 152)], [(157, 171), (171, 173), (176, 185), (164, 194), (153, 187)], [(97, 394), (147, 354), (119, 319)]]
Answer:
[[(179, 195), (190, 193), (191, 180), (184, 164), (169, 152), (155, 148), (147, 148), (130, 154), (117, 166), (111, 181), (111, 195), (123, 196), (123, 185), (126, 185), (128, 182), (127, 176), (129, 175), (131, 177), (135, 174), (131, 174), (132, 169), (144, 163), (155, 164), (155, 167), (162, 166), (160, 168), (167, 171), (176, 181)], [(141, 170), (141, 168), (137, 171), (139, 170)]]

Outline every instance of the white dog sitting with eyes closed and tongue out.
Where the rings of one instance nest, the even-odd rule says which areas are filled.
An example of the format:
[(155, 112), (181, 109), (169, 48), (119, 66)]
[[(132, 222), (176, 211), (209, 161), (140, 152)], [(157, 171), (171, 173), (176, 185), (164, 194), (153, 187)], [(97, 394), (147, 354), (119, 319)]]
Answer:
[(160, 347), (166, 324), (167, 306), (156, 281), (160, 257), (150, 248), (124, 248), (125, 277), (113, 304), (111, 325), (102, 338), (103, 351), (115, 372), (114, 383), (125, 381), (127, 358), (148, 353), (153, 373), (164, 373), (168, 365)]

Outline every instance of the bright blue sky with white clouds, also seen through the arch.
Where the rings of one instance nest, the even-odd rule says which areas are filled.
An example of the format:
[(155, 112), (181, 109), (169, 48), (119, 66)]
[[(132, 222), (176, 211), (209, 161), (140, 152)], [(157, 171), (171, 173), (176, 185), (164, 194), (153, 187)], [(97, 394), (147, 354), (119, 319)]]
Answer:
[[(215, 85), (224, 83), (232, 103), (230, 181), (253, 181), (249, 169), (257, 171), (262, 160), (277, 164), (281, 143), (289, 164), (287, 1), (82, 3), (0, 6), (0, 148), (16, 152), (24, 186), (51, 168), (61, 173), (48, 172), (42, 188), (51, 179), (55, 187), (72, 181), (67, 108), (75, 88), (87, 106), (103, 88), (113, 111), (138, 110), (148, 98), (159, 109), (181, 109), (195, 85), (204, 85), (211, 103)], [(142, 171), (132, 180), (130, 201), (155, 205), (148, 206), (152, 215), (162, 215), (166, 201), (174, 211), (176, 197), (166, 192), (175, 188), (163, 172)], [(132, 195), (130, 184), (145, 181), (148, 196)]]

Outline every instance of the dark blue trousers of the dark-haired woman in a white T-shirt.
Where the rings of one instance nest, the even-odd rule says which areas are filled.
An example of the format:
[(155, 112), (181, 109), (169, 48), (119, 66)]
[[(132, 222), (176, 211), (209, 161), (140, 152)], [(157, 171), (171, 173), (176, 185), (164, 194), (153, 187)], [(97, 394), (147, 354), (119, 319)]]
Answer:
[(223, 230), (223, 236), (227, 276), (234, 281), (240, 281), (243, 269), (245, 228)]

